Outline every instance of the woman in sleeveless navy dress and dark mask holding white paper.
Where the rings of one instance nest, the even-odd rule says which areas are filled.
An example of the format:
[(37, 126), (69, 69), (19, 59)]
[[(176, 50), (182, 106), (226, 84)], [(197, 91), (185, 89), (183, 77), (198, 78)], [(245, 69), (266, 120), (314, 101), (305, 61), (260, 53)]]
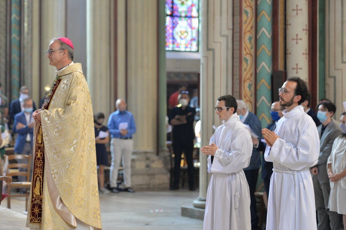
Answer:
[(98, 179), (100, 186), (100, 193), (107, 194), (109, 190), (104, 188), (104, 166), (108, 165), (108, 154), (106, 150), (106, 143), (109, 141), (109, 131), (107, 126), (103, 123), (104, 114), (99, 112), (94, 115), (94, 128), (95, 128), (95, 148), (96, 148), (96, 162), (98, 166)]

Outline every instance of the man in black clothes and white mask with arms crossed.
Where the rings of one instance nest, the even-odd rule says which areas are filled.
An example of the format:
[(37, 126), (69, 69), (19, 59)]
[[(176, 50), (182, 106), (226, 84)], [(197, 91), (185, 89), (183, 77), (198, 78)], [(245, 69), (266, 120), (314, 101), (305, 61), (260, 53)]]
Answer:
[(174, 151), (174, 184), (171, 190), (179, 189), (181, 154), (184, 151), (188, 163), (189, 189), (194, 188), (193, 168), (193, 120), (195, 108), (189, 106), (189, 92), (181, 91), (178, 96), (179, 104), (174, 107), (169, 115), (169, 123), (173, 126), (173, 151)]

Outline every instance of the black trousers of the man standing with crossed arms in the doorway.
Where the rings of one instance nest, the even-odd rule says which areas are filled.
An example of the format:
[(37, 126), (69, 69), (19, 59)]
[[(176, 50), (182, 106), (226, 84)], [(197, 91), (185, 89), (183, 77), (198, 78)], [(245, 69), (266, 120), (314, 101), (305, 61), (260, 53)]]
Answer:
[(188, 163), (188, 175), (189, 175), (189, 186), (194, 186), (193, 174), (193, 140), (189, 141), (174, 141), (173, 140), (173, 151), (174, 151), (174, 186), (179, 187), (180, 182), (180, 162), (181, 154), (184, 151), (186, 156), (186, 162)]

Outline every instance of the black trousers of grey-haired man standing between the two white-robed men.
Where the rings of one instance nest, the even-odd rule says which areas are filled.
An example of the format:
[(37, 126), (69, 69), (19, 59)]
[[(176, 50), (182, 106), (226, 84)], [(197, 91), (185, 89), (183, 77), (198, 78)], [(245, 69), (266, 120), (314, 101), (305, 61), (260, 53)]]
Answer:
[(251, 227), (252, 228), (256, 228), (256, 227), (258, 228), (258, 216), (257, 216), (256, 197), (255, 197), (258, 170), (259, 169), (244, 170), (245, 177), (246, 177), (247, 183), (249, 185), (249, 190), (250, 190), (250, 201), (251, 201), (250, 213), (251, 213)]

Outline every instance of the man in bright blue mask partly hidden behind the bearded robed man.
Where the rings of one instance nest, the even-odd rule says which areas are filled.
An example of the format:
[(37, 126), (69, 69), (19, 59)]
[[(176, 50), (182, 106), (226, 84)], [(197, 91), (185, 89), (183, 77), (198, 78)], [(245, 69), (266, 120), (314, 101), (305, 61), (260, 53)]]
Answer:
[[(285, 107), (280, 106), (279, 101), (275, 101), (272, 106), (270, 107), (270, 112), (272, 116), (272, 123), (268, 124), (266, 127), (270, 131), (274, 131), (276, 128), (277, 121), (283, 117), (282, 112), (285, 110)], [(266, 143), (263, 143), (262, 141), (258, 141), (257, 138), (252, 138), (252, 143), (254, 144), (254, 148), (258, 151), (263, 151), (267, 147)], [(269, 194), (269, 186), (270, 186), (270, 177), (273, 174), (273, 162), (268, 162), (264, 160), (264, 153), (262, 154), (262, 171), (261, 176), (264, 181), (264, 188), (266, 192), (266, 199), (265, 199), (265, 205), (268, 204), (268, 194)]]

